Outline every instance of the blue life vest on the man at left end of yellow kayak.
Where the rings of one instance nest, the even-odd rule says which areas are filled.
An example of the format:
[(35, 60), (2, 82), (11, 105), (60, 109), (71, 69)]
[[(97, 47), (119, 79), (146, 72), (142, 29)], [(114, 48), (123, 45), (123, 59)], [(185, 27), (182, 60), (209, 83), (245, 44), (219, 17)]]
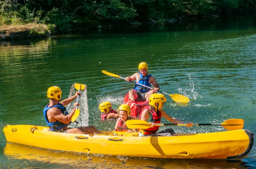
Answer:
[(47, 111), (52, 108), (52, 107), (57, 107), (59, 110), (61, 110), (61, 113), (63, 113), (64, 115), (68, 115), (68, 112), (66, 110), (66, 107), (64, 107), (62, 104), (58, 103), (58, 105), (54, 105), (54, 106), (50, 106), (48, 107), (49, 104), (46, 105), (46, 107), (44, 107), (44, 120), (47, 123), (47, 126), (50, 128), (51, 131), (58, 131), (63, 129), (64, 127), (67, 127), (68, 125), (70, 125), (72, 122), (70, 121), (69, 124), (64, 124), (60, 121), (55, 121), (53, 123), (49, 122), (48, 118), (47, 118)]

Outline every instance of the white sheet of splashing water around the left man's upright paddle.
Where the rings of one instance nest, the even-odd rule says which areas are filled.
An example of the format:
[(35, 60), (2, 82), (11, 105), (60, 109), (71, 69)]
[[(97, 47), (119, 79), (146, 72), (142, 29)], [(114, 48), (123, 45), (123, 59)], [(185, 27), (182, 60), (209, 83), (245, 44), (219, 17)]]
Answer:
[[(69, 98), (76, 94), (77, 90), (74, 87), (74, 84), (70, 88)], [(74, 108), (74, 103), (76, 103), (76, 99), (74, 99), (70, 104), (67, 105), (67, 111), (70, 111)], [(88, 103), (87, 103), (87, 87), (81, 91), (81, 96), (79, 97), (79, 104), (80, 104), (80, 115), (76, 119), (78, 124), (72, 123), (70, 127), (81, 127), (81, 126), (88, 126), (89, 125), (89, 110), (88, 110)]]

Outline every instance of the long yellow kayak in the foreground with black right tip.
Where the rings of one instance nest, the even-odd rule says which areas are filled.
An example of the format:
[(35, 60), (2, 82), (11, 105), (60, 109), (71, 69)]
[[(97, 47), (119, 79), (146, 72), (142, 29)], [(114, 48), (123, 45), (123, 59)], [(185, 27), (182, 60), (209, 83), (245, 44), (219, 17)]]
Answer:
[(48, 127), (6, 125), (8, 142), (44, 149), (143, 158), (241, 158), (253, 146), (248, 130), (179, 134), (171, 137), (139, 137), (137, 132), (103, 132), (79, 135), (50, 132)]

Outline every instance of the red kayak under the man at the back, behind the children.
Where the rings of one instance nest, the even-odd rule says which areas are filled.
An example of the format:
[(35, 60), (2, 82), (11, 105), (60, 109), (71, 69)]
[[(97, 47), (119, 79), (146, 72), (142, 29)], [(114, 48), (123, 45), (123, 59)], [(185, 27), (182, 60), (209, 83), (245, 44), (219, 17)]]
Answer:
[(131, 104), (135, 103), (133, 107), (131, 107), (130, 117), (138, 118), (140, 117), (140, 113), (142, 109), (148, 105), (148, 101), (131, 101), (129, 98), (129, 93), (126, 94), (124, 99), (125, 104), (128, 102), (128, 105), (131, 107)]

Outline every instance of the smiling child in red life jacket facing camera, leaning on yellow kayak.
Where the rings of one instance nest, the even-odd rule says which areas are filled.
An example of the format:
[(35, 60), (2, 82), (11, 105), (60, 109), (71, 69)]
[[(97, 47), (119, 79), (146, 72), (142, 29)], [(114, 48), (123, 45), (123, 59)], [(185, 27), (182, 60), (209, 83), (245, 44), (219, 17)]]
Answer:
[(136, 129), (129, 129), (125, 122), (127, 120), (134, 119), (133, 117), (129, 117), (131, 113), (131, 107), (127, 104), (121, 104), (118, 108), (119, 118), (116, 121), (115, 131), (119, 132), (136, 132)]

